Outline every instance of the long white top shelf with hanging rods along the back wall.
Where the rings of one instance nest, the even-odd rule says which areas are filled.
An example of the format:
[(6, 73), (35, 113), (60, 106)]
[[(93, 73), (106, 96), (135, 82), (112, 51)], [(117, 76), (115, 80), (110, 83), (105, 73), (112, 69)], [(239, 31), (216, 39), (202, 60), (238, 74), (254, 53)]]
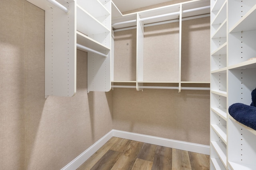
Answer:
[[(210, 13), (209, 0), (192, 0), (179, 4), (158, 7), (131, 14), (122, 15), (112, 4), (112, 27), (115, 29), (136, 26), (136, 16), (139, 14), (144, 24), (155, 23), (168, 20), (177, 20), (180, 16), (180, 6), (182, 5), (182, 18), (198, 16)], [(178, 21), (178, 20), (177, 20)]]

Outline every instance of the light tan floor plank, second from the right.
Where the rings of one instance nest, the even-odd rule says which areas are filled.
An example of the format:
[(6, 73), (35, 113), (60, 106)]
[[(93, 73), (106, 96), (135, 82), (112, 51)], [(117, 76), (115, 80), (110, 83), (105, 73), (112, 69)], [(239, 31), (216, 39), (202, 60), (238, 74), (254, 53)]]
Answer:
[(188, 151), (172, 149), (172, 170), (191, 170)]

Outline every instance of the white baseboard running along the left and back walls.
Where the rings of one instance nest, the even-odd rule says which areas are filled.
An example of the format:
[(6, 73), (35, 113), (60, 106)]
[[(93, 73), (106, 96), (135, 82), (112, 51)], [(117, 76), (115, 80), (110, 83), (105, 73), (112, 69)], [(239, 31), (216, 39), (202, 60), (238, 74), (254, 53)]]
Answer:
[(133, 141), (139, 141), (144, 143), (150, 143), (153, 145), (159, 145), (163, 147), (170, 147), (174, 149), (187, 150), (190, 152), (197, 152), (201, 154), (210, 154), (210, 146), (200, 145), (196, 143), (189, 143), (183, 141), (176, 141), (172, 139), (166, 139), (161, 137), (154, 137), (149, 135), (142, 135), (138, 133), (131, 133), (126, 131), (111, 130), (104, 137), (94, 143), (91, 147), (86, 149), (82, 154), (72, 160), (69, 164), (64, 166), (61, 170), (76, 170), (81, 166), (90, 156), (92, 156), (100, 147), (102, 147), (111, 137), (120, 137)]

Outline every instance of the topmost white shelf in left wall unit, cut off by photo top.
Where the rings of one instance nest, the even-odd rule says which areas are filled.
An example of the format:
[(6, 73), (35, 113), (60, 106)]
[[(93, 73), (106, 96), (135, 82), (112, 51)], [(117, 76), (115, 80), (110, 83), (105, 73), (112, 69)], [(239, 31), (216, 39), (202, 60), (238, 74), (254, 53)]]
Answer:
[(110, 15), (105, 6), (103, 6), (98, 0), (76, 0), (76, 2), (80, 8), (83, 8), (89, 14), (94, 16), (94, 18)]

